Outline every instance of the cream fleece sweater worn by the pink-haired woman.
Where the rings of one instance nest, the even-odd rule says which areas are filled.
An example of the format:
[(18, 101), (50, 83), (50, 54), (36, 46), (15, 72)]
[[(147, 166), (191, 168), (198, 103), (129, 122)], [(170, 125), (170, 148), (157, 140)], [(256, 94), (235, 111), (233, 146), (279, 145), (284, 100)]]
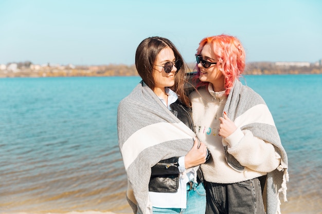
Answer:
[[(236, 122), (237, 130), (226, 139), (218, 135), (219, 118), (227, 101), (225, 91), (214, 92), (209, 83), (208, 89), (193, 91), (190, 99), (194, 132), (211, 153), (209, 160), (201, 165), (206, 181), (237, 183), (263, 176), (278, 167), (280, 157), (274, 146), (254, 137), (251, 131), (242, 131)], [(223, 147), (226, 145), (228, 152), (245, 166), (244, 171), (236, 171), (227, 164)]]

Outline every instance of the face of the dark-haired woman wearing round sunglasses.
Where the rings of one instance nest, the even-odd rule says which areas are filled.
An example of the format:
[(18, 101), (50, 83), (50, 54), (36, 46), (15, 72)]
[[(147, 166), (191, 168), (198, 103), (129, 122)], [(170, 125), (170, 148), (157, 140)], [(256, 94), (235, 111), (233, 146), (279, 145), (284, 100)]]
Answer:
[(156, 90), (165, 90), (165, 87), (171, 87), (174, 85), (174, 75), (176, 72), (176, 67), (173, 65), (170, 73), (166, 73), (165, 63), (172, 62), (174, 64), (175, 57), (173, 50), (169, 47), (162, 49), (156, 56), (154, 69), (153, 69), (153, 79), (155, 82), (154, 92)]

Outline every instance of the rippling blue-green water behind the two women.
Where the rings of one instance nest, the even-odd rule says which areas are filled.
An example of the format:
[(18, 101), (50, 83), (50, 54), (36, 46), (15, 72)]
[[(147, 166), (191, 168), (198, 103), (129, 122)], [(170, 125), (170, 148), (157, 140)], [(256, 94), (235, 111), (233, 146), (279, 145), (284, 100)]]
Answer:
[[(283, 213), (317, 213), (322, 75), (244, 77), (289, 157)], [(130, 212), (116, 114), (140, 77), (0, 79), (0, 213)]]

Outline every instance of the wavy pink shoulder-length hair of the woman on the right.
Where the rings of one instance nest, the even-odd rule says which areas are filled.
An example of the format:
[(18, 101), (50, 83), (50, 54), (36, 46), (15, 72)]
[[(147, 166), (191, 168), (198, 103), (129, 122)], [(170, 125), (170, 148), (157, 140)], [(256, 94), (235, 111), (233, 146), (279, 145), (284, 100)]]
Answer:
[[(238, 38), (230, 35), (217, 35), (203, 38), (199, 43), (197, 54), (200, 54), (206, 44), (210, 44), (214, 55), (218, 57), (216, 66), (222, 71), (225, 76), (226, 95), (229, 94), (230, 89), (234, 86), (235, 79), (241, 76), (245, 69), (245, 51)], [(196, 66), (198, 71), (196, 77), (200, 75), (200, 69)], [(201, 82), (199, 86), (208, 85), (207, 82)]]

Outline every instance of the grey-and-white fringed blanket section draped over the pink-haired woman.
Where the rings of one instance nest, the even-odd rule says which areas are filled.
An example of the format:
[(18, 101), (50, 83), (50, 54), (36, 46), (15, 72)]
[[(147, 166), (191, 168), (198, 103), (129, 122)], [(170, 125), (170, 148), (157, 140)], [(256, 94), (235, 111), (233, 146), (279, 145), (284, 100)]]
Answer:
[[(254, 109), (260, 109), (260, 111)], [(236, 80), (234, 87), (229, 92), (224, 111), (232, 121), (247, 118), (245, 122), (241, 122), (241, 130), (250, 130), (255, 137), (273, 144), (275, 151), (280, 155), (280, 166), (274, 171), (267, 173), (266, 180), (266, 213), (280, 213), (279, 192), (283, 192), (284, 201), (287, 201), (286, 182), (289, 181), (288, 158), (287, 153), (281, 145), (273, 117), (264, 100), (251, 88), (242, 85), (241, 82)], [(256, 112), (259, 113), (256, 114)], [(267, 115), (265, 116), (265, 121), (261, 118), (261, 114)], [(243, 170), (244, 167), (227, 151), (226, 158), (232, 168), (237, 171)]]

